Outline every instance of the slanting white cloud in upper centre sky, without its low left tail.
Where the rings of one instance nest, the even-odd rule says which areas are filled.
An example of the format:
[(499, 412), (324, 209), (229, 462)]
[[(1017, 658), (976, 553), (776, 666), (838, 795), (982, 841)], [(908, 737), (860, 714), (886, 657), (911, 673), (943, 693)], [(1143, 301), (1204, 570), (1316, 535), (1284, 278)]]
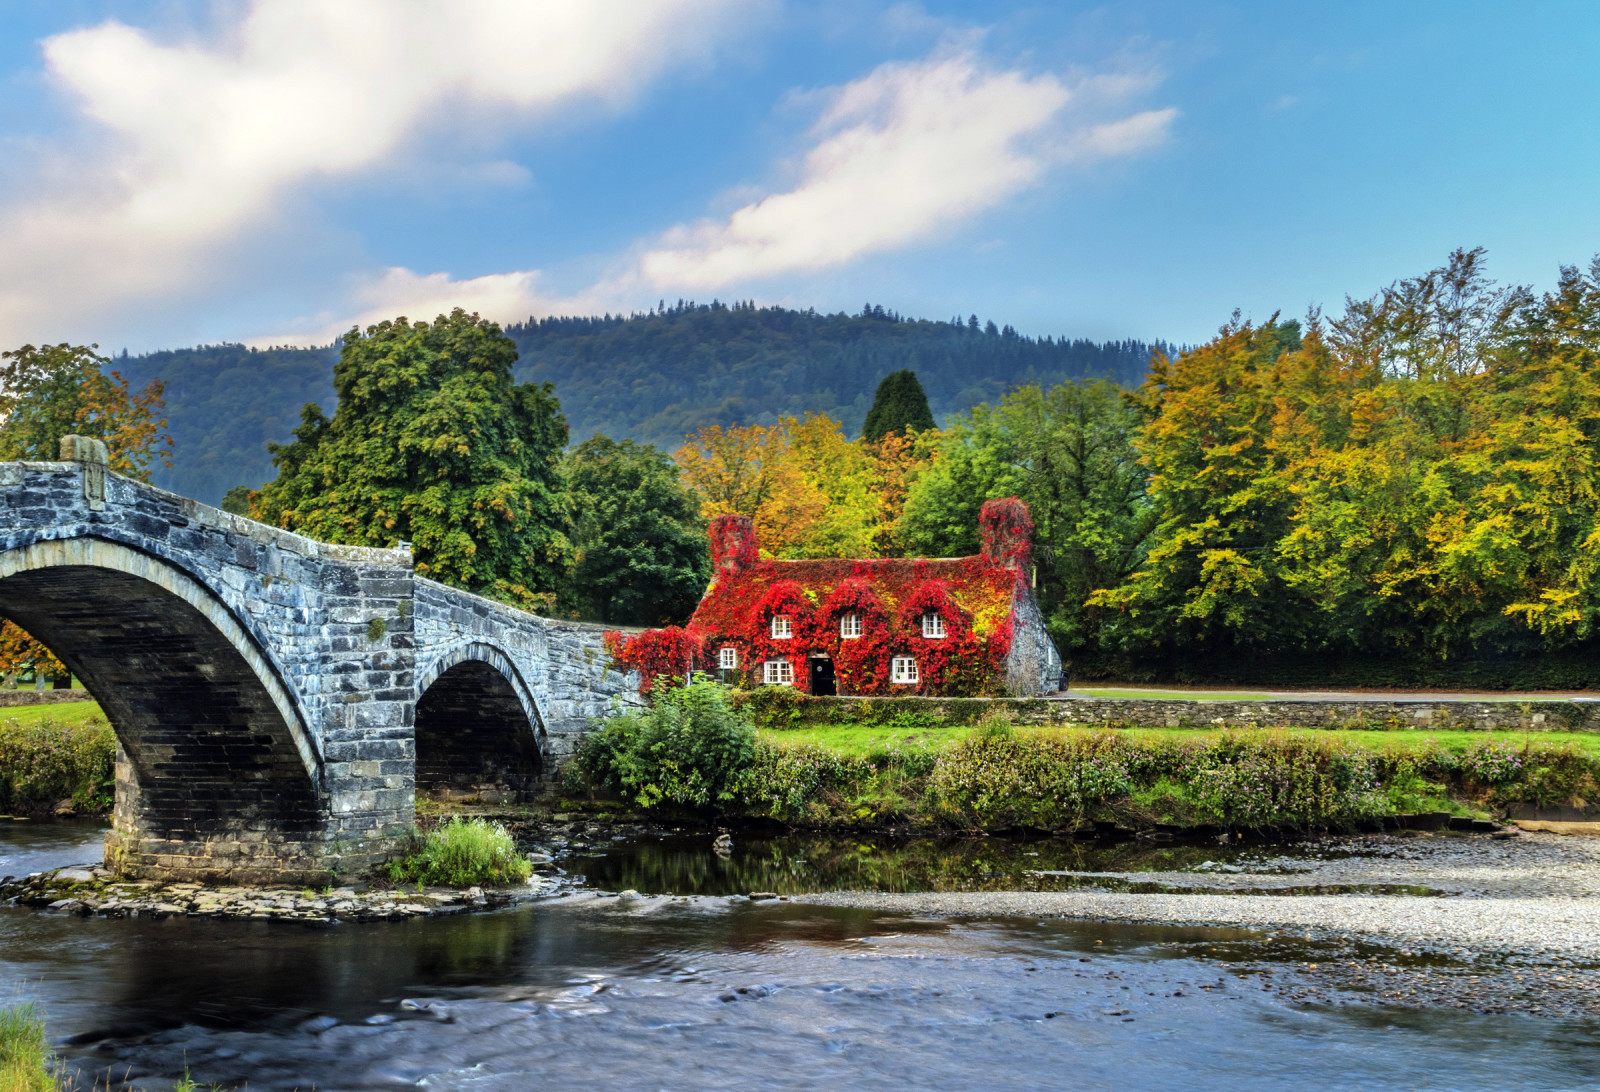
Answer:
[(1173, 109), (1106, 118), (1147, 85), (1125, 75), (1069, 86), (989, 69), (971, 50), (885, 64), (829, 96), (792, 189), (667, 231), (635, 277), (666, 291), (717, 288), (936, 237), (1059, 163), (1158, 144)]

